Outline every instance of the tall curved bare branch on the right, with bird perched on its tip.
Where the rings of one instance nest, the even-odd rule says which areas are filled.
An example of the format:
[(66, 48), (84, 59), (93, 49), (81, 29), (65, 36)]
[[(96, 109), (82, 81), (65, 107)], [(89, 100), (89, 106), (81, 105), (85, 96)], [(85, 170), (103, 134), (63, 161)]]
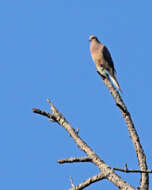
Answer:
[[(99, 72), (98, 72), (98, 74), (99, 74)], [(132, 139), (134, 148), (136, 150), (136, 155), (138, 158), (138, 165), (140, 167), (140, 170), (146, 171), (147, 170), (146, 155), (145, 155), (142, 145), (140, 143), (140, 139), (137, 134), (137, 131), (134, 127), (134, 123), (132, 121), (131, 115), (128, 112), (127, 107), (124, 104), (119, 92), (113, 87), (112, 83), (108, 80), (108, 78), (107, 77), (103, 78), (103, 76), (101, 76), (101, 79), (103, 80), (104, 84), (107, 86), (110, 93), (112, 94), (112, 96), (116, 102), (116, 105), (120, 108), (122, 116), (127, 124), (130, 137)], [(140, 188), (144, 189), (144, 190), (148, 190), (148, 187), (149, 187), (148, 173), (141, 173)]]

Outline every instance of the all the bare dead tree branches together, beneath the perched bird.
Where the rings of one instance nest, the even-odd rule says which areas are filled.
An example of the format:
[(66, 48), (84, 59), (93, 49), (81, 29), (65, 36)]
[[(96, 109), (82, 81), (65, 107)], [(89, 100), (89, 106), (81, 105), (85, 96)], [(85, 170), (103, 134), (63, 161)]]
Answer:
[[(112, 83), (109, 81), (107, 77), (101, 76), (104, 84), (107, 86), (109, 89), (110, 93), (112, 94), (116, 105), (119, 107), (121, 114), (127, 124), (127, 128), (130, 134), (130, 137), (132, 139), (134, 148), (136, 150), (136, 155), (138, 159), (138, 165), (140, 170), (128, 170), (128, 168), (125, 169), (120, 169), (120, 168), (110, 168), (107, 164), (104, 163), (104, 161), (80, 138), (78, 135), (78, 131), (76, 131), (72, 126), (68, 123), (68, 121), (65, 119), (65, 117), (55, 108), (55, 106), (48, 100), (48, 103), (51, 106), (51, 111), (52, 113), (48, 113), (45, 111), (42, 111), (37, 108), (33, 108), (33, 112), (43, 115), (45, 117), (48, 117), (52, 122), (57, 122), (59, 125), (61, 125), (73, 138), (75, 143), (78, 145), (78, 147), (83, 150), (86, 154), (87, 157), (83, 158), (67, 158), (63, 160), (59, 160), (58, 162), (60, 164), (63, 163), (73, 163), (73, 162), (92, 162), (95, 164), (101, 171), (102, 173), (102, 179), (106, 178), (109, 181), (111, 181), (114, 185), (116, 185), (119, 189), (124, 189), (124, 190), (133, 190), (132, 186), (130, 186), (127, 182), (125, 182), (120, 176), (118, 176), (114, 170), (121, 171), (121, 172), (138, 172), (141, 173), (141, 178), (140, 178), (140, 190), (148, 190), (149, 187), (149, 173), (151, 173), (151, 170), (147, 170), (147, 163), (146, 163), (146, 156), (144, 154), (144, 150), (142, 148), (142, 145), (140, 143), (139, 136), (137, 134), (137, 131), (134, 127), (134, 123), (132, 121), (131, 115), (127, 110), (126, 105), (124, 104), (119, 92), (113, 87)], [(92, 179), (92, 178), (91, 178)], [(86, 184), (88, 184), (89, 179), (86, 180)], [(85, 184), (83, 182), (82, 184)], [(89, 185), (89, 184), (88, 184)], [(88, 186), (87, 185), (87, 186)], [(86, 186), (84, 186), (86, 187)], [(83, 189), (83, 185), (81, 186), (74, 186), (70, 190), (78, 190), (78, 189)]]

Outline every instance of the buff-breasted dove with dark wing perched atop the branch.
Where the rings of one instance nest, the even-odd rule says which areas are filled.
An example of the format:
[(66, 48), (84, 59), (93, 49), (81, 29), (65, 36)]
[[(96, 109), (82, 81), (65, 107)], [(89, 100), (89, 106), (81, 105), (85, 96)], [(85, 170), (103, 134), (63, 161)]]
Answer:
[(120, 92), (122, 92), (116, 78), (116, 70), (108, 48), (94, 35), (89, 37), (89, 41), (91, 57), (96, 64), (97, 71), (104, 77), (107, 76), (106, 73), (108, 72), (113, 84)]

